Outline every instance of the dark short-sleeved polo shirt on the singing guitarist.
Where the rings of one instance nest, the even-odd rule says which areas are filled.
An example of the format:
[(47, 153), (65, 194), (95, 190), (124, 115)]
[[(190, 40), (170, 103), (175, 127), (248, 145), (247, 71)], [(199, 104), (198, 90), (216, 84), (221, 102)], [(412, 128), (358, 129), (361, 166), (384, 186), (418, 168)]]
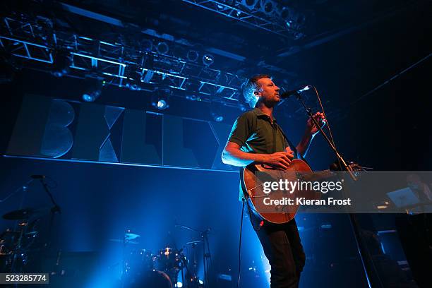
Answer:
[(272, 123), (270, 116), (258, 108), (236, 119), (228, 141), (239, 144), (244, 152), (260, 154), (281, 152), (289, 146), (275, 117)]

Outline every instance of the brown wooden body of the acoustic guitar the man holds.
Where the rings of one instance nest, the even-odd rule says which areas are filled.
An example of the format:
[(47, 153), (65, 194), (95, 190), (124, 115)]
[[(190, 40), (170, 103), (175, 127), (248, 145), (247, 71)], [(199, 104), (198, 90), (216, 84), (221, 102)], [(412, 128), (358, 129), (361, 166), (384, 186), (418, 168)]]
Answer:
[(319, 198), (315, 191), (296, 189), (292, 193), (287, 191), (272, 191), (264, 193), (263, 183), (265, 181), (280, 181), (280, 179), (288, 179), (289, 181), (299, 181), (310, 178), (313, 175), (311, 167), (306, 162), (299, 159), (292, 160), (287, 170), (277, 170), (270, 167), (265, 167), (262, 164), (250, 164), (241, 170), (241, 188), (244, 193), (244, 198), (248, 202), (251, 212), (258, 216), (261, 220), (266, 220), (275, 224), (283, 224), (291, 221), (296, 215), (299, 205), (273, 205), (272, 208), (265, 207), (263, 198), (293, 198), (301, 195), (306, 198)]

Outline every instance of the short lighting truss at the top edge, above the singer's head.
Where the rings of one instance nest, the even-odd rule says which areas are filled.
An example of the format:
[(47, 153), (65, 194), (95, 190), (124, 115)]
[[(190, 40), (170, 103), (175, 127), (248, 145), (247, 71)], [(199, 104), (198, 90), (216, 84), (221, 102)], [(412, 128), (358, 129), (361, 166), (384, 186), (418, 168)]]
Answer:
[(241, 6), (229, 6), (224, 4), (222, 1), (216, 0), (181, 0), (188, 4), (193, 4), (200, 8), (204, 8), (209, 11), (213, 11), (215, 13), (219, 13), (228, 18), (232, 18), (253, 27), (257, 27), (263, 29), (268, 32), (275, 33), (282, 37), (286, 37), (289, 39), (295, 38), (294, 35), (297, 35), (299, 31), (292, 30), (284, 23), (279, 23), (273, 19), (266, 19), (260, 16), (260, 11), (251, 10), (248, 11), (246, 8)]

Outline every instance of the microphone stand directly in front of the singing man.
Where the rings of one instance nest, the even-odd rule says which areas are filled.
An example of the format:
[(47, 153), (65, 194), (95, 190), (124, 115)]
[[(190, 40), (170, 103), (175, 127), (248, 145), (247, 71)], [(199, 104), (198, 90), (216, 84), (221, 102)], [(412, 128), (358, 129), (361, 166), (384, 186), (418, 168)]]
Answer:
[[(295, 97), (297, 98), (297, 100), (299, 100), (299, 102), (301, 103), (301, 105), (304, 107), (306, 114), (308, 114), (309, 117), (311, 117), (313, 124), (316, 125), (316, 127), (318, 128), (318, 131), (321, 133), (321, 135), (324, 137), (325, 141), (328, 143), (328, 145), (330, 146), (330, 148), (332, 149), (332, 151), (335, 153), (337, 160), (342, 163), (342, 169), (344, 169), (345, 171), (348, 172), (349, 176), (351, 177), (351, 179), (353, 181), (357, 180), (356, 175), (354, 175), (353, 169), (352, 167), (350, 167), (347, 162), (344, 160), (344, 158), (342, 157), (342, 155), (340, 155), (340, 153), (337, 151), (337, 148), (335, 145), (333, 145), (332, 141), (330, 140), (330, 138), (328, 138), (327, 134), (325, 134), (325, 132), (323, 131), (323, 128), (320, 126), (320, 124), (318, 123), (318, 121), (316, 121), (316, 119), (313, 117), (312, 114), (312, 109), (310, 107), (306, 106), (306, 103), (304, 102), (303, 98), (301, 97), (301, 94), (299, 92), (295, 92), (294, 93)], [(366, 282), (368, 283), (368, 287), (372, 288), (372, 287), (383, 287), (383, 283), (380, 281), (378, 272), (376, 271), (375, 266), (373, 265), (373, 260), (371, 257), (371, 254), (368, 252), (367, 250), (367, 246), (366, 243), (364, 241), (364, 239), (361, 237), (360, 234), (360, 229), (359, 229), (359, 224), (356, 220), (356, 217), (354, 216), (353, 213), (349, 213), (349, 222), (351, 224), (352, 230), (354, 232), (354, 240), (356, 241), (356, 247), (357, 250), (359, 251), (359, 257), (361, 260), (361, 264), (363, 265), (363, 269), (364, 269), (364, 274), (366, 277)], [(366, 263), (367, 261), (367, 263)], [(371, 268), (369, 267), (371, 266), (371, 268), (373, 268), (373, 270), (371, 271)], [(371, 277), (369, 275), (370, 272), (373, 272), (371, 275), (374, 275), (376, 278), (375, 281), (373, 281), (373, 285), (371, 283)], [(375, 285), (376, 284), (376, 285)]]

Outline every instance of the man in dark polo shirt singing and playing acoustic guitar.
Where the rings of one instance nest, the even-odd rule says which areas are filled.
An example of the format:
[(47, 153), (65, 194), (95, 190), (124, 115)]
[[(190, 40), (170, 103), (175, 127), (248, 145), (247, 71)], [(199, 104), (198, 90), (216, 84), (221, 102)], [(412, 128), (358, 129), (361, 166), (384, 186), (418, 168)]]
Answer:
[[(273, 116), (273, 108), (280, 102), (279, 90), (268, 75), (253, 76), (248, 80), (244, 97), (254, 109), (236, 119), (222, 152), (225, 164), (239, 167), (251, 163), (267, 164), (284, 170), (294, 157), (306, 155), (318, 128), (312, 119), (308, 119), (300, 143), (295, 148), (290, 147)], [(320, 121), (324, 115), (317, 112), (314, 118)], [(249, 213), (249, 217), (271, 266), (270, 287), (299, 287), (306, 257), (295, 220), (272, 224), (260, 222), (253, 213)]]

